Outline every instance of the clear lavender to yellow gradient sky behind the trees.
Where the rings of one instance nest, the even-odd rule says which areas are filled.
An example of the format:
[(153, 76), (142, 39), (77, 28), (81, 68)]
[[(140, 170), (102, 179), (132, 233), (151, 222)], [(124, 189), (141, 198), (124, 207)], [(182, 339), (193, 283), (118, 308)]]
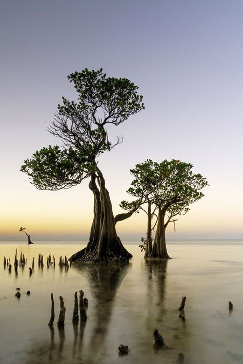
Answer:
[[(103, 67), (129, 78), (145, 110), (109, 138), (124, 141), (102, 155), (114, 214), (147, 158), (192, 163), (207, 177), (205, 196), (168, 228), (168, 239), (241, 239), (243, 2), (241, 0), (2, 0), (0, 239), (87, 239), (93, 196), (88, 181), (39, 191), (20, 172), (44, 146), (62, 96), (75, 99), (67, 76)], [(117, 224), (123, 240), (146, 234), (146, 215)]]

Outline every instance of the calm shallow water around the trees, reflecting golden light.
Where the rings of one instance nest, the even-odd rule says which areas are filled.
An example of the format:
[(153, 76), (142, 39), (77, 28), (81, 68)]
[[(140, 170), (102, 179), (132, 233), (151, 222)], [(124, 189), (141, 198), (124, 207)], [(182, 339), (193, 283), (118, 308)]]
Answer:
[[(178, 363), (243, 362), (243, 243), (179, 242), (168, 244), (173, 259), (146, 262), (137, 245), (127, 245), (133, 259), (125, 265), (100, 265), (69, 270), (47, 269), (51, 254), (71, 256), (76, 244), (0, 244), (0, 362), (15, 363)], [(3, 267), (4, 255), (13, 265), (24, 253), (27, 267), (17, 275)], [(37, 265), (44, 255), (44, 268)], [(29, 276), (32, 257), (35, 269)], [(21, 288), (21, 298), (15, 297)], [(86, 325), (72, 324), (74, 293), (89, 299)], [(26, 292), (31, 294), (27, 296)], [(55, 321), (50, 319), (53, 292)], [(59, 296), (64, 297), (64, 330), (58, 330)], [(187, 296), (185, 321), (178, 317), (181, 297)], [(228, 301), (233, 302), (233, 311)], [(158, 329), (166, 347), (153, 346)], [(129, 354), (119, 356), (123, 343)]]

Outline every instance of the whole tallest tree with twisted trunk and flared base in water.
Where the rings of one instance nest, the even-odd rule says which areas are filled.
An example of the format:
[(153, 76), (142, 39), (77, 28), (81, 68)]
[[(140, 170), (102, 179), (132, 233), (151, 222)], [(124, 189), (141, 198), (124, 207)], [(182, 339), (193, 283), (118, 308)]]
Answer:
[(117, 137), (112, 145), (106, 127), (118, 126), (130, 115), (144, 109), (143, 96), (127, 78), (107, 77), (98, 71), (74, 72), (68, 76), (78, 93), (77, 102), (63, 97), (48, 131), (62, 140), (63, 146), (49, 146), (26, 159), (21, 171), (40, 190), (71, 188), (88, 178), (94, 196), (94, 217), (90, 238), (85, 249), (71, 260), (120, 261), (132, 255), (124, 248), (116, 234), (115, 224), (136, 211), (113, 216), (105, 178), (98, 167), (100, 154), (122, 143)]

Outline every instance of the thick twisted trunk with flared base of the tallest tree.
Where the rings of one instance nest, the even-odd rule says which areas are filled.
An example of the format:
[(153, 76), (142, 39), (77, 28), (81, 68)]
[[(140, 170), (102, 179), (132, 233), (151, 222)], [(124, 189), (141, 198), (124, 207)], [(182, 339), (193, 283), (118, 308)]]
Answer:
[[(96, 185), (98, 181), (99, 188)], [(94, 195), (94, 218), (90, 239), (85, 249), (73, 254), (69, 260), (84, 262), (126, 261), (132, 255), (124, 248), (116, 234), (115, 219), (105, 179), (100, 171), (93, 174), (89, 188)], [(128, 216), (129, 217), (129, 216)]]

